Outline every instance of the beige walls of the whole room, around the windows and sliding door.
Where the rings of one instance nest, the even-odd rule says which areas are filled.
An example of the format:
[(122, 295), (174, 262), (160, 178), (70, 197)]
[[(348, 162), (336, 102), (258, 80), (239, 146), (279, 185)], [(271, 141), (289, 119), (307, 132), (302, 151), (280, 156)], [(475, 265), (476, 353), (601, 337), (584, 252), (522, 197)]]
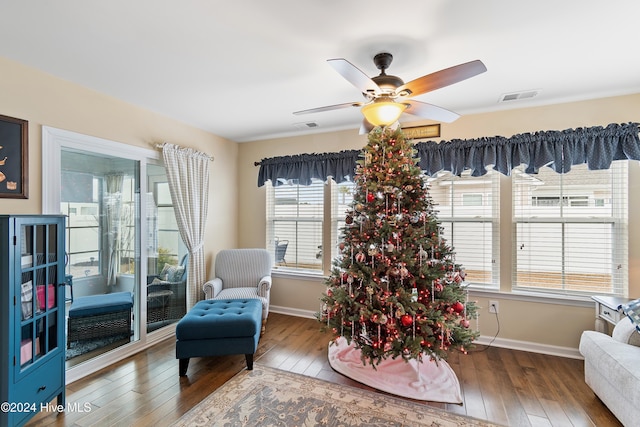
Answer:
[[(357, 130), (236, 144), (175, 120), (134, 107), (78, 85), (0, 58), (0, 114), (29, 121), (29, 199), (0, 199), (0, 213), (40, 213), (41, 127), (51, 126), (140, 147), (168, 141), (215, 157), (212, 164), (205, 251), (207, 275), (220, 249), (264, 247), (265, 189), (257, 187), (253, 162), (279, 155), (358, 149), (366, 136)], [(638, 121), (640, 95), (567, 103), (549, 107), (467, 115), (442, 125), (442, 140), (503, 135), (537, 130)], [(640, 167), (632, 162), (630, 185), (630, 297), (640, 297)], [(229, 185), (234, 182), (237, 186)], [(504, 230), (503, 230), (504, 231)], [(508, 265), (510, 254), (502, 255)], [(507, 264), (504, 264), (507, 263)], [(504, 277), (502, 288), (508, 288)], [(276, 277), (272, 304), (315, 312), (325, 290), (321, 281)], [(486, 307), (488, 298), (478, 296)], [(550, 346), (577, 347), (580, 332), (593, 327), (593, 309), (561, 304), (500, 300), (500, 337)], [(495, 333), (495, 322), (481, 311), (483, 335)]]

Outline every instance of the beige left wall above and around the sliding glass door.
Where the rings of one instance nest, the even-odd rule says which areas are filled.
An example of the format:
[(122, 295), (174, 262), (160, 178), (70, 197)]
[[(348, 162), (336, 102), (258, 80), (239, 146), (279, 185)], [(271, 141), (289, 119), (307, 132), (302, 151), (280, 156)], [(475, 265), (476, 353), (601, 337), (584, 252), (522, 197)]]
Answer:
[[(171, 142), (215, 157), (210, 176), (206, 258), (237, 244), (238, 144), (123, 101), (0, 58), (0, 114), (29, 121), (29, 198), (0, 199), (0, 213), (42, 212), (42, 126), (152, 148)], [(229, 179), (231, 177), (231, 179)]]

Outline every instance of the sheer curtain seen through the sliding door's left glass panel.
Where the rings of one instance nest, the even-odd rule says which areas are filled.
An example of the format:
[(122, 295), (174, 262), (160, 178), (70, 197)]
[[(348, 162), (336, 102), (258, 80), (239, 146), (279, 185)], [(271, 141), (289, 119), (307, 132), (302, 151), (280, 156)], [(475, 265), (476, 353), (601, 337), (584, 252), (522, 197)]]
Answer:
[(107, 245), (109, 248), (109, 263), (107, 265), (107, 286), (116, 284), (118, 266), (120, 265), (120, 217), (122, 214), (122, 183), (123, 174), (107, 175), (107, 191), (104, 205), (107, 215)]

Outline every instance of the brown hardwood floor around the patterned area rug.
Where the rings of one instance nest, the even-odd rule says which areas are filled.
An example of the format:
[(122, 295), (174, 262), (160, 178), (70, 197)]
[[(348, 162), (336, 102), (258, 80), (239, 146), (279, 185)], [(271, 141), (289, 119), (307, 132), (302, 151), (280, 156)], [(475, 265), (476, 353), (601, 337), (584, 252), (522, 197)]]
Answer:
[[(369, 389), (331, 369), (328, 340), (313, 319), (271, 313), (255, 362)], [(451, 353), (448, 362), (464, 403), (423, 404), (506, 426), (621, 425), (584, 383), (581, 360), (478, 346), (468, 355)], [(169, 339), (68, 385), (67, 403), (84, 412), (41, 412), (29, 425), (171, 425), (242, 369), (243, 355), (197, 358), (188, 377), (180, 378), (175, 341)]]

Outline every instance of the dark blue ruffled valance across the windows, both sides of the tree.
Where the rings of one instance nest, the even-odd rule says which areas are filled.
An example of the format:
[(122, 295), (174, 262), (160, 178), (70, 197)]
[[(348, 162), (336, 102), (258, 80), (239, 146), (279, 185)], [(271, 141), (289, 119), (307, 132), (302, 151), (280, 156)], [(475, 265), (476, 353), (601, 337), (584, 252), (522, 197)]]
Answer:
[[(513, 168), (525, 165), (527, 173), (548, 166), (567, 173), (573, 165), (586, 163), (589, 169), (608, 169), (614, 160), (640, 160), (638, 123), (610, 124), (606, 127), (540, 131), (511, 137), (454, 139), (415, 144), (420, 169), (427, 175), (449, 171), (460, 175), (471, 170), (473, 176), (487, 173), (487, 167), (510, 175)], [(308, 185), (311, 178), (333, 177), (340, 183), (353, 178), (360, 150), (339, 153), (298, 154), (263, 159), (258, 186), (268, 180), (298, 179)]]

